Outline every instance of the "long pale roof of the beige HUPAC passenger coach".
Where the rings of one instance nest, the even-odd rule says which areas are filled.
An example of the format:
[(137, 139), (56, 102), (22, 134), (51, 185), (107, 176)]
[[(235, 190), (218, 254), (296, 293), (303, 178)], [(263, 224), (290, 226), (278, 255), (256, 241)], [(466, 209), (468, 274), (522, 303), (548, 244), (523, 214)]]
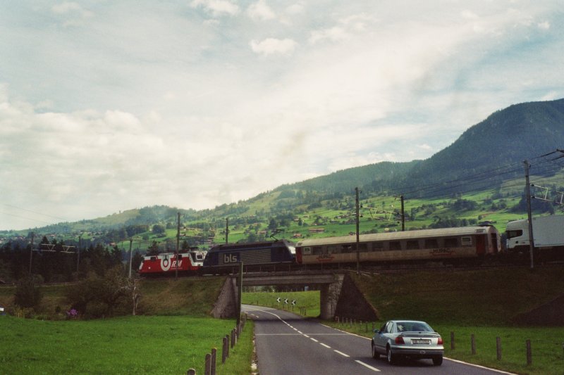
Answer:
[[(491, 226), (419, 229), (415, 231), (388, 231), (384, 233), (360, 234), (359, 242), (372, 241), (394, 241), (402, 239), (427, 239), (433, 237), (469, 236), (471, 234), (497, 233), (497, 229)], [(299, 241), (296, 246), (321, 246), (333, 243), (353, 243), (356, 236), (324, 237), (321, 239), (305, 239)]]

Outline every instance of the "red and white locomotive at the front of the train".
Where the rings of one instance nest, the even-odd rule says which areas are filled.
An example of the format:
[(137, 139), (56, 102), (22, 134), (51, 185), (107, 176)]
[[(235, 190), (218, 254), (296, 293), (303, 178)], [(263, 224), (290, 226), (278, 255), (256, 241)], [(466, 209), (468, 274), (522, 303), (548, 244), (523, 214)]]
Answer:
[(140, 276), (176, 274), (197, 274), (204, 265), (206, 251), (191, 248), (178, 253), (145, 255), (139, 265)]

